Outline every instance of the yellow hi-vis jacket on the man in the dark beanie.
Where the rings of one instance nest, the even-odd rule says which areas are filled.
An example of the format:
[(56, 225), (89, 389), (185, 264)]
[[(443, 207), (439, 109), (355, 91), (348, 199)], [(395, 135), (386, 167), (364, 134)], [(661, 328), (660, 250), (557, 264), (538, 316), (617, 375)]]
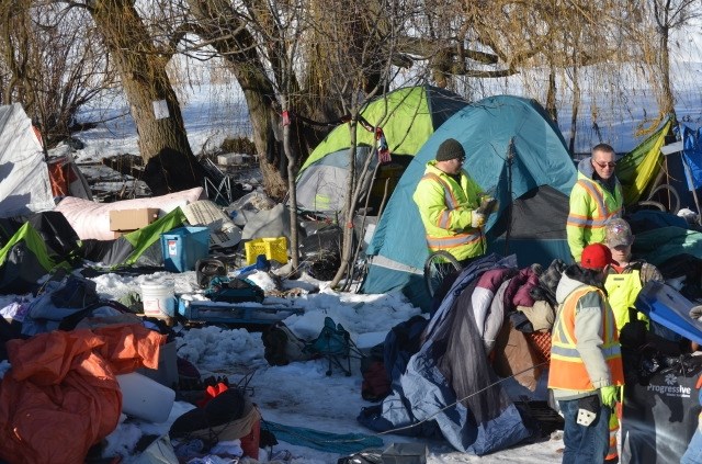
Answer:
[(485, 235), (471, 227), (473, 211), (479, 205), (480, 186), (461, 171), (461, 182), (427, 163), (412, 200), (419, 208), (430, 252), (446, 250), (458, 261), (485, 253)]

